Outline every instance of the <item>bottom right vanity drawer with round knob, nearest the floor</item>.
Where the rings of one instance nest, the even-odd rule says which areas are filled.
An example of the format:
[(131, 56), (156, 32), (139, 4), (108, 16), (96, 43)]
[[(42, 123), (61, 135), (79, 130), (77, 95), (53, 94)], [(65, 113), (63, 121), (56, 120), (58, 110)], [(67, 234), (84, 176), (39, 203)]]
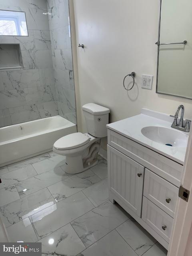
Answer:
[(143, 196), (142, 220), (169, 243), (173, 218)]

